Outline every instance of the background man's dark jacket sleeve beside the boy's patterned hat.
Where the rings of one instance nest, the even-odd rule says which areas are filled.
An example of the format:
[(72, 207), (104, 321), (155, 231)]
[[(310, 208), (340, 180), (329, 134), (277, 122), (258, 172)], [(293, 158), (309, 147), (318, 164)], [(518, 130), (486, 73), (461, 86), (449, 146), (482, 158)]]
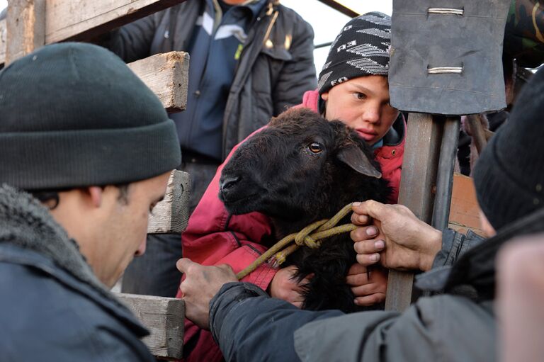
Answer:
[(273, 89), (274, 114), (302, 101), (302, 94), (317, 88), (314, 67), (314, 30), (300, 16), (295, 18), (293, 43), (290, 45), (291, 60), (286, 61)]

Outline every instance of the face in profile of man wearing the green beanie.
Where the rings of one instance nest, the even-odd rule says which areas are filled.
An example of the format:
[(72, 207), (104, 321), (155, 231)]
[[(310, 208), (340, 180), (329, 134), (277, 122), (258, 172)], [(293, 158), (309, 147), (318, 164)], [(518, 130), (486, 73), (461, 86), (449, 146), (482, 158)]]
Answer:
[(101, 230), (95, 234), (93, 256), (88, 258), (106, 285), (113, 286), (133, 257), (144, 254), (149, 212), (162, 200), (169, 174), (130, 183), (125, 200), (119, 198), (119, 188), (104, 189)]

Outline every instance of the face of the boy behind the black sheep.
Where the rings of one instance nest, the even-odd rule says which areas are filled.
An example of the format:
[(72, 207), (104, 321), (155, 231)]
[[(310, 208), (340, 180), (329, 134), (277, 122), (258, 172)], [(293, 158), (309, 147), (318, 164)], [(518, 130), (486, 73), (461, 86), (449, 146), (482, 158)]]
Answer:
[(325, 118), (346, 123), (369, 145), (381, 140), (399, 115), (389, 104), (387, 78), (380, 75), (344, 81), (321, 97), (327, 102)]

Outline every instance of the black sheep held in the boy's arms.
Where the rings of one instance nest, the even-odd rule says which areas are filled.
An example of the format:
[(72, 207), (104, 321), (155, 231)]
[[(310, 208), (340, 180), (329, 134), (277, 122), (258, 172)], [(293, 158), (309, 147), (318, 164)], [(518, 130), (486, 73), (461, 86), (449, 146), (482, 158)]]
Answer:
[[(380, 165), (357, 133), (306, 108), (286, 111), (246, 140), (225, 165), (219, 197), (230, 213), (259, 211), (271, 217), (276, 241), (312, 222), (334, 216), (353, 201), (385, 201), (390, 193)], [(349, 216), (339, 223), (349, 222)], [(297, 278), (314, 273), (305, 288), (309, 310), (356, 310), (346, 284), (356, 263), (349, 234), (324, 240), (319, 249), (300, 247), (283, 266)]]

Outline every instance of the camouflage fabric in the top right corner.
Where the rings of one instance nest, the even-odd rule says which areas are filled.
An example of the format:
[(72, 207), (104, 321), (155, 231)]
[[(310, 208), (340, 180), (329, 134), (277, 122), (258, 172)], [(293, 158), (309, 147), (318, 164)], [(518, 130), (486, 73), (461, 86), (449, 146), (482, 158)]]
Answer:
[(544, 2), (513, 0), (504, 30), (504, 56), (520, 67), (544, 63)]

